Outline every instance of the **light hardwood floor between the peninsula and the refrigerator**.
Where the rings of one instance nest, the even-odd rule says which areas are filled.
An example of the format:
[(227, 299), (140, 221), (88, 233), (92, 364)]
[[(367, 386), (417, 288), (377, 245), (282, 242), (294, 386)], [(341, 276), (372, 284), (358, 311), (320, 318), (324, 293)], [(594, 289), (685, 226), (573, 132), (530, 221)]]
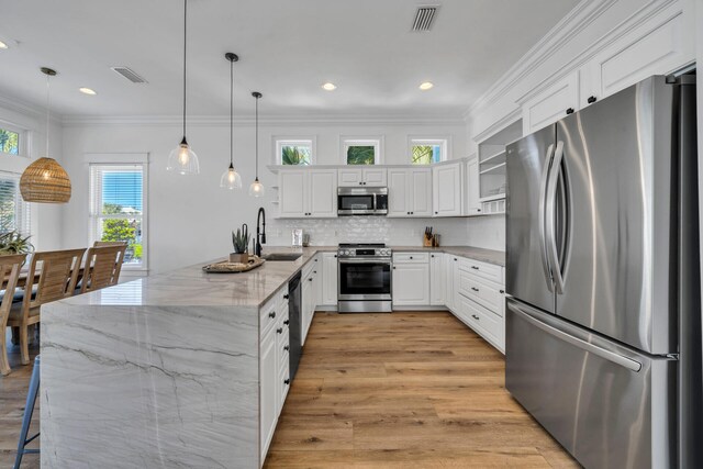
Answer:
[(570, 468), (449, 313), (315, 314), (266, 468)]

